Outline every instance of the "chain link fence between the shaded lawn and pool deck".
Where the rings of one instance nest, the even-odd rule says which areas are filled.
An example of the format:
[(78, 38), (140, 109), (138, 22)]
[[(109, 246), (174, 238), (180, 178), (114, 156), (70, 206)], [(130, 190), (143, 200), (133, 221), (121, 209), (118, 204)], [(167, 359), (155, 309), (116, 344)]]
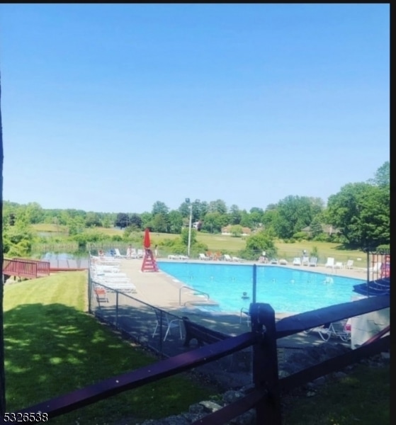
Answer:
[[(109, 288), (104, 283), (97, 283), (91, 278), (91, 273), (88, 279), (88, 293), (91, 314), (162, 358), (177, 356), (198, 347), (196, 340), (185, 346), (186, 329), (181, 316), (137, 300), (133, 295)], [(290, 353), (298, 349), (279, 348), (280, 365), (281, 362), (287, 361)], [(249, 385), (252, 380), (251, 358), (249, 347), (218, 361), (199, 366), (193, 371), (202, 375), (205, 382), (220, 388), (242, 387)]]

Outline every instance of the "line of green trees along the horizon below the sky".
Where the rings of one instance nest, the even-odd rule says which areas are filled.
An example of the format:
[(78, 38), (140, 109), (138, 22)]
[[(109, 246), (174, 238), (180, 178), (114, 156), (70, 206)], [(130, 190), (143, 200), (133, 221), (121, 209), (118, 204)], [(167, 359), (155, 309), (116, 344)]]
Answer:
[[(390, 243), (390, 163), (385, 162), (366, 182), (347, 183), (329, 197), (286, 196), (265, 209), (249, 211), (237, 205), (230, 208), (224, 200), (183, 202), (176, 210), (157, 200), (150, 212), (86, 212), (74, 209), (44, 209), (38, 203), (21, 205), (4, 201), (3, 230), (15, 226), (50, 223), (60, 231), (67, 227), (69, 235), (77, 235), (90, 227), (119, 227), (125, 234), (146, 227), (152, 232), (180, 234), (193, 222), (199, 230), (220, 233), (228, 227), (234, 236), (244, 228), (265, 231), (271, 238), (284, 240), (315, 239), (340, 242), (351, 247), (379, 246)], [(6, 238), (7, 241), (7, 238)]]

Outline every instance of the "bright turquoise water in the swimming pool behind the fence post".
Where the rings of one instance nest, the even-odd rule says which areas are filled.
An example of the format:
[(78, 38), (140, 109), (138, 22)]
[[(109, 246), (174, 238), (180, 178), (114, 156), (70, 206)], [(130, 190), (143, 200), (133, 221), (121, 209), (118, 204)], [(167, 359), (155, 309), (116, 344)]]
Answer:
[[(158, 265), (162, 271), (185, 285), (208, 293), (210, 300), (219, 303), (219, 311), (239, 312), (242, 307), (249, 307), (252, 300), (251, 265), (162, 261)], [(301, 268), (257, 266), (256, 302), (266, 302), (276, 312), (307, 312), (351, 301), (353, 285), (363, 282)], [(242, 299), (243, 292), (247, 292), (249, 299)]]

